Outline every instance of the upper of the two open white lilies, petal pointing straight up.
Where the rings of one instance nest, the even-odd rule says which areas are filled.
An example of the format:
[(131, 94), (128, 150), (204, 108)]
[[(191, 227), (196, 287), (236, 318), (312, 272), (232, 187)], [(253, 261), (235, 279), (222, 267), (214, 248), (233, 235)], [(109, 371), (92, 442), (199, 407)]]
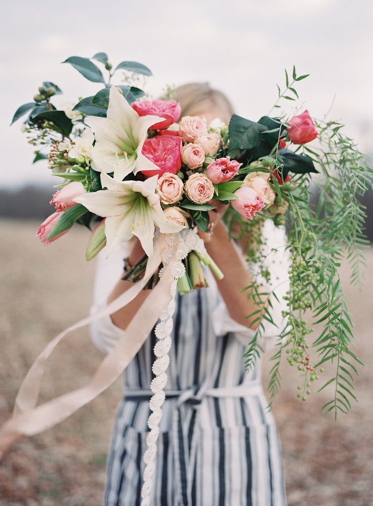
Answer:
[[(163, 119), (163, 118), (162, 118)], [(112, 86), (106, 118), (87, 116), (85, 122), (95, 134), (92, 167), (106, 174), (114, 172), (114, 179), (122, 179), (133, 172), (158, 169), (141, 153), (147, 129), (159, 122), (154, 115), (139, 116), (124, 96)]]

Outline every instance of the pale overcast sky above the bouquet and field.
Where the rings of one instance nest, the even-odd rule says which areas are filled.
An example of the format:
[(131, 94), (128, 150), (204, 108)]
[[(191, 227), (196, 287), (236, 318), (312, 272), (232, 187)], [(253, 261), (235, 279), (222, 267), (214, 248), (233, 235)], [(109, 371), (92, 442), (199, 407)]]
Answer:
[[(32, 100), (42, 81), (62, 89), (54, 103), (76, 101), (102, 86), (61, 61), (108, 53), (116, 65), (136, 60), (154, 73), (148, 87), (208, 81), (236, 111), (257, 120), (276, 99), (283, 69), (295, 64), (310, 77), (299, 83), (301, 103), (330, 113), (365, 151), (373, 151), (373, 2), (371, 0), (1, 0), (0, 186), (50, 183), (33, 147), (9, 128), (15, 109)], [(120, 75), (119, 75), (120, 76)], [(119, 83), (117, 83), (119, 84)], [(289, 112), (291, 112), (289, 102)], [(59, 180), (54, 178), (54, 184)]]

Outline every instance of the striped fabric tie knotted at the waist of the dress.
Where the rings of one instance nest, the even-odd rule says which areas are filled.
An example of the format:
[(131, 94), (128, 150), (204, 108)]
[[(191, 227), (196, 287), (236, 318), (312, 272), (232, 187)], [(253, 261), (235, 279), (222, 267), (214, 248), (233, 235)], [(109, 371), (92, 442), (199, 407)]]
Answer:
[[(192, 504), (192, 484), (194, 478), (194, 469), (196, 465), (197, 449), (200, 446), (200, 404), (207, 397), (248, 397), (252, 395), (264, 394), (263, 386), (259, 381), (251, 381), (245, 384), (207, 388), (190, 387), (185, 390), (166, 390), (166, 399), (177, 399), (175, 410), (172, 415), (172, 452), (174, 457), (177, 478), (175, 480), (175, 504), (180, 506), (190, 506)], [(127, 401), (149, 401), (153, 392), (151, 390), (136, 390), (126, 388), (125, 400)], [(181, 406), (190, 403), (195, 409), (194, 430), (191, 444), (189, 445), (189, 435), (182, 423), (183, 417)], [(189, 450), (190, 448), (190, 450)]]

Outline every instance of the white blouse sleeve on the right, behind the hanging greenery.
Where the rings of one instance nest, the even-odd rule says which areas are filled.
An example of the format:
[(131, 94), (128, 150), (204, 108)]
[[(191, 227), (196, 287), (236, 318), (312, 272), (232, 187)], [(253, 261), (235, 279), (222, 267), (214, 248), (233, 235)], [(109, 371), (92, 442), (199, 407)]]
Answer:
[[(285, 320), (282, 317), (282, 312), (286, 308), (283, 296), (286, 294), (289, 286), (288, 270), (290, 257), (288, 250), (285, 248), (287, 244), (285, 227), (276, 227), (272, 220), (266, 220), (263, 226), (263, 236), (265, 245), (262, 251), (266, 257), (263, 263), (270, 271), (271, 281), (270, 283), (266, 283), (260, 279), (259, 281), (263, 281), (265, 286), (273, 289), (278, 298), (277, 301), (275, 297), (270, 297), (273, 306), (270, 314), (275, 325), (267, 320), (263, 320), (264, 333), (261, 345), (264, 349), (268, 349), (274, 345), (285, 324)], [(258, 266), (249, 265), (249, 268), (255, 274)], [(255, 334), (254, 330), (237, 323), (231, 318), (227, 306), (222, 299), (220, 299), (214, 309), (213, 322), (216, 335), (225, 335), (227, 332), (232, 332), (245, 346), (247, 346)]]

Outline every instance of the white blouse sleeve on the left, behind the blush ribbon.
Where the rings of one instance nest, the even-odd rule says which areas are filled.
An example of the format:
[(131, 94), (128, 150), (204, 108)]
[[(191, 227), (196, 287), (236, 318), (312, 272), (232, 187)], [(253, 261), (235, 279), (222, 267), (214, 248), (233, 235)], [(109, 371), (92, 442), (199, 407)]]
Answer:
[[(108, 258), (106, 258), (106, 248), (97, 255), (91, 316), (106, 307), (111, 291), (123, 275), (123, 259), (127, 256), (127, 243), (123, 243), (121, 249), (112, 253)], [(110, 316), (100, 318), (90, 325), (91, 339), (103, 353), (108, 353), (123, 333), (122, 329), (114, 325)]]

